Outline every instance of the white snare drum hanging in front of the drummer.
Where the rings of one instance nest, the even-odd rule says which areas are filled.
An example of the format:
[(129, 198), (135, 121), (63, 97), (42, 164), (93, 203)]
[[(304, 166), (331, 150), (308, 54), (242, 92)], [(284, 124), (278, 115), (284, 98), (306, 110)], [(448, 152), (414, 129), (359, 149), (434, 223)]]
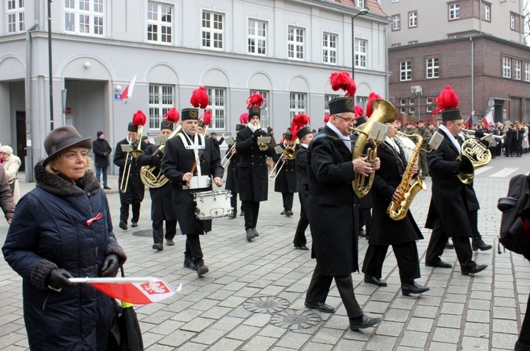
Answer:
[(230, 216), (234, 210), (230, 205), (230, 197), (230, 190), (195, 192), (195, 216), (201, 221)]

